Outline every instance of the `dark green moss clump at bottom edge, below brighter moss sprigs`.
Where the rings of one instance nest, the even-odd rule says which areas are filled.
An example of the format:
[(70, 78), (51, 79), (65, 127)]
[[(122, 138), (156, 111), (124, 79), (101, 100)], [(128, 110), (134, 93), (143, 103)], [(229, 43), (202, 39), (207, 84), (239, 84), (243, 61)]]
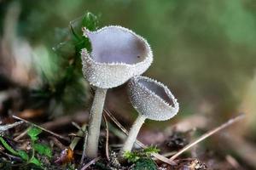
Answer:
[(135, 163), (132, 170), (157, 170), (157, 167), (152, 159), (142, 158)]

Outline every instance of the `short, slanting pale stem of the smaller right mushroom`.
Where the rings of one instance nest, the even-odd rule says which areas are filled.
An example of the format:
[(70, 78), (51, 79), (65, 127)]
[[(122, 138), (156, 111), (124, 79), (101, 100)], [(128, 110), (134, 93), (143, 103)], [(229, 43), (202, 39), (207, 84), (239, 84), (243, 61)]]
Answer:
[(143, 122), (145, 122), (146, 117), (143, 115), (139, 115), (136, 121), (133, 123), (131, 130), (129, 132), (128, 138), (125, 141), (123, 148), (119, 151), (119, 157), (122, 157), (126, 151), (131, 151), (133, 144), (137, 139), (137, 134), (140, 128), (143, 126)]

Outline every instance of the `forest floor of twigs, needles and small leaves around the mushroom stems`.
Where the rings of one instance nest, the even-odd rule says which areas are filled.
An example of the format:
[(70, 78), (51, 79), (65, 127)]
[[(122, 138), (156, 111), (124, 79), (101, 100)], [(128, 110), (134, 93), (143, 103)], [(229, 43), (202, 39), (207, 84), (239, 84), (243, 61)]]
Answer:
[[(45, 122), (41, 121), (44, 120), (44, 115), (38, 114), (38, 111), (26, 110), (19, 116), (3, 117), (0, 126), (1, 169), (203, 170), (247, 167), (238, 163), (231, 155), (224, 156), (218, 150), (209, 150), (207, 146), (198, 144), (212, 134), (224, 130), (224, 127), (240, 121), (243, 115), (230, 119), (197, 139), (194, 138), (193, 127), (185, 131), (179, 129), (179, 126), (188, 126), (184, 122), (172, 127), (168, 135), (149, 131), (147, 136), (160, 142), (154, 142), (154, 145), (148, 147), (137, 141), (137, 149), (122, 164), (117, 159), (117, 153), (128, 132), (107, 109), (103, 114), (98, 156), (90, 159), (84, 155), (84, 120), (88, 120), (88, 115), (88, 112), (78, 112)], [(27, 118), (32, 121), (27, 121)]]

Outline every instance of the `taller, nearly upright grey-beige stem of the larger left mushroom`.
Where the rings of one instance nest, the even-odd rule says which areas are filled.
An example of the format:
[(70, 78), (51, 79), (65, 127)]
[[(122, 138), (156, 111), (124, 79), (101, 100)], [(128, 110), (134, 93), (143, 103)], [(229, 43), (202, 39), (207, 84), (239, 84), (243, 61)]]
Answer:
[(90, 158), (95, 158), (97, 156), (102, 122), (102, 111), (106, 94), (106, 88), (97, 88), (90, 109), (90, 123), (88, 129), (88, 138), (86, 142), (86, 156)]

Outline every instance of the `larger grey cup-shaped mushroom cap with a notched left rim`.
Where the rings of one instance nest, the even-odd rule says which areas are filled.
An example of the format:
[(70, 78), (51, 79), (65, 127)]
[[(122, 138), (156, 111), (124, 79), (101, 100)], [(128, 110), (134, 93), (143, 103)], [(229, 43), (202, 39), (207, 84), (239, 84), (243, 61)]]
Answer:
[(84, 28), (92, 51), (82, 49), (84, 77), (98, 88), (114, 88), (148, 69), (153, 54), (148, 42), (121, 26), (106, 26), (97, 31)]

